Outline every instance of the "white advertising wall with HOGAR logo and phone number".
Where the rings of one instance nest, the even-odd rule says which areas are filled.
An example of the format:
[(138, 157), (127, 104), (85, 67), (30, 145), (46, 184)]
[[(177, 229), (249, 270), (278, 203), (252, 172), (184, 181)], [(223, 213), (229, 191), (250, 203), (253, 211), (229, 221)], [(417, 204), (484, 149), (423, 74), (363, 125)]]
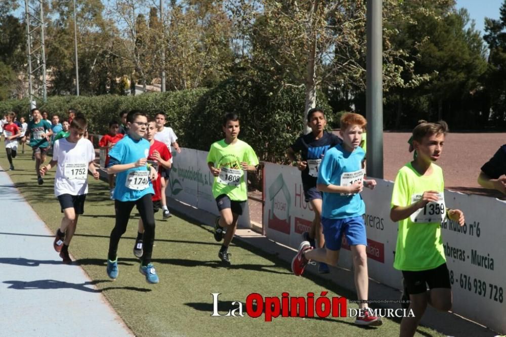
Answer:
[[(401, 287), (393, 268), (397, 224), (390, 220), (393, 182), (376, 180), (374, 190), (361, 193), (366, 204), (369, 276)], [(313, 219), (304, 201), (297, 167), (265, 163), (264, 230), (272, 240), (298, 248), (301, 233)], [(461, 209), (466, 225), (442, 225), (442, 237), (453, 291), (453, 311), (497, 331), (506, 332), (506, 202), (495, 198), (445, 191), (449, 208)], [(349, 246), (343, 243), (339, 264), (351, 268)], [(371, 298), (374, 296), (371, 295)]]

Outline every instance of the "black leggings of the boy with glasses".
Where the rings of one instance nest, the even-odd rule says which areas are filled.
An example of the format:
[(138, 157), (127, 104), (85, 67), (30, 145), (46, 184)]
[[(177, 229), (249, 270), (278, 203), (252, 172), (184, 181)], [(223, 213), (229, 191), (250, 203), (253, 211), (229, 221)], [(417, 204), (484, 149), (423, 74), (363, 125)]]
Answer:
[(153, 242), (155, 240), (155, 216), (153, 213), (153, 201), (151, 200), (152, 196), (152, 194), (146, 194), (136, 201), (114, 201), (116, 224), (111, 231), (109, 240), (109, 260), (116, 260), (119, 239), (121, 235), (126, 232), (126, 225), (128, 225), (128, 221), (130, 220), (130, 213), (134, 205), (136, 205), (141, 215), (142, 223), (144, 224), (144, 238), (142, 240), (144, 254), (142, 256), (142, 265), (146, 266), (151, 262)]

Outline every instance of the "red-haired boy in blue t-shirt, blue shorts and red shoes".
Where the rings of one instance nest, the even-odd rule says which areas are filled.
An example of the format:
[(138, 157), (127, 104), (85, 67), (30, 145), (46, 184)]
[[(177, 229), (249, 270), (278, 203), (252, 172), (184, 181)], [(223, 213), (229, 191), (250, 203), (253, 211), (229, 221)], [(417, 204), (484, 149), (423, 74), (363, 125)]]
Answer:
[(308, 241), (303, 241), (291, 269), (295, 275), (302, 275), (311, 260), (336, 266), (344, 234), (351, 247), (357, 298), (361, 301), (355, 324), (378, 326), (383, 324), (381, 318), (372, 316), (367, 310), (367, 237), (362, 217), (365, 204), (359, 194), (364, 186), (370, 189), (376, 186), (374, 180), (364, 179), (365, 152), (360, 142), (366, 123), (365, 118), (356, 113), (345, 113), (341, 117), (343, 144), (325, 153), (317, 180), (318, 189), (323, 191), (321, 224), (325, 248), (312, 248)]

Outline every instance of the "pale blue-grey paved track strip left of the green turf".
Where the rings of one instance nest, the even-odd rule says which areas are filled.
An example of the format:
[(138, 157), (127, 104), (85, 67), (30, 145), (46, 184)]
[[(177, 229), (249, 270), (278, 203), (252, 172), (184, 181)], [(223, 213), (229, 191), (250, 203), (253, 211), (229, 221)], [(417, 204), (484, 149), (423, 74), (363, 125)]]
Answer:
[[(36, 188), (36, 186), (34, 186)], [(132, 336), (85, 272), (0, 170), (0, 335)]]

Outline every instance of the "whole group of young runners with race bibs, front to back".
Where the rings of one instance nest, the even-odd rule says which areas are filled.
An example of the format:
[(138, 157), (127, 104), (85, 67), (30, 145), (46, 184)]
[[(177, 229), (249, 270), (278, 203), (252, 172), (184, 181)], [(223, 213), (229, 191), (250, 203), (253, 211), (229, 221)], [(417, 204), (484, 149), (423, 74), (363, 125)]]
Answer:
[[(31, 114), (33, 119), (27, 125), (26, 136), (30, 136), (30, 146), (35, 153), (38, 183), (42, 184), (42, 177), (52, 167), (57, 167), (55, 195), (64, 216), (53, 246), (64, 263), (71, 263), (68, 245), (77, 219), (83, 214), (88, 192), (87, 174), (90, 172), (95, 179), (99, 178), (93, 163), (93, 145), (84, 137), (87, 120), (77, 115), (72, 116), (67, 127), (64, 123), (60, 137), (55, 137), (52, 160), (40, 167), (45, 161), (47, 138), (53, 132), (37, 109)], [(118, 244), (136, 206), (140, 220), (134, 255), (141, 260), (139, 270), (146, 281), (158, 283), (158, 275), (151, 263), (154, 213), (162, 208), (163, 217), (170, 216), (164, 192), (172, 167), (170, 150), (171, 146), (178, 153), (181, 149), (174, 131), (164, 126), (164, 113), (149, 119), (146, 113), (133, 110), (121, 112), (119, 117), (121, 123), (111, 121), (109, 133), (99, 143), (107, 151), (104, 169), (109, 174), (110, 196), (114, 199), (115, 209), (107, 274), (112, 279), (118, 277)], [(6, 134), (9, 135), (6, 148), (9, 142), (22, 136), (21, 131), (9, 126), (12, 118), (9, 114), (4, 125), (4, 131), (9, 133)], [(371, 315), (367, 305), (367, 236), (363, 220), (365, 204), (360, 192), (364, 187), (374, 189), (376, 186), (373, 179), (365, 176), (365, 149), (361, 148), (365, 143), (362, 137), (367, 121), (356, 113), (344, 114), (341, 137), (337, 137), (325, 131), (325, 114), (315, 108), (309, 111), (307, 124), (311, 132), (299, 137), (287, 149), (288, 158), (301, 171), (305, 199), (314, 210), (311, 229), (303, 234), (299, 251), (292, 260), (292, 271), (295, 275), (302, 275), (307, 264), (315, 261), (319, 262), (319, 272), (328, 273), (329, 266), (338, 265), (344, 236), (351, 247), (357, 299), (360, 300), (361, 314), (355, 323), (381, 325), (381, 318)], [(255, 171), (259, 160), (251, 146), (238, 139), (240, 121), (236, 114), (227, 113), (222, 128), (225, 137), (210, 146), (207, 165), (215, 177), (213, 196), (220, 213), (213, 235), (216, 241), (223, 240), (218, 257), (229, 265), (231, 254), (228, 247), (247, 201), (245, 172)], [(414, 317), (406, 317), (401, 322), (403, 336), (414, 334), (428, 304), (444, 311), (452, 305), (441, 222), (448, 218), (463, 225), (465, 219), (460, 210), (446, 207), (442, 170), (435, 164), (441, 156), (447, 132), (444, 121), (420, 121), (410, 140), (416, 156), (399, 170), (394, 183), (390, 217), (398, 222), (399, 227), (394, 268), (403, 275), (402, 303), (414, 313)], [(13, 155), (15, 152), (11, 148), (8, 156)]]

